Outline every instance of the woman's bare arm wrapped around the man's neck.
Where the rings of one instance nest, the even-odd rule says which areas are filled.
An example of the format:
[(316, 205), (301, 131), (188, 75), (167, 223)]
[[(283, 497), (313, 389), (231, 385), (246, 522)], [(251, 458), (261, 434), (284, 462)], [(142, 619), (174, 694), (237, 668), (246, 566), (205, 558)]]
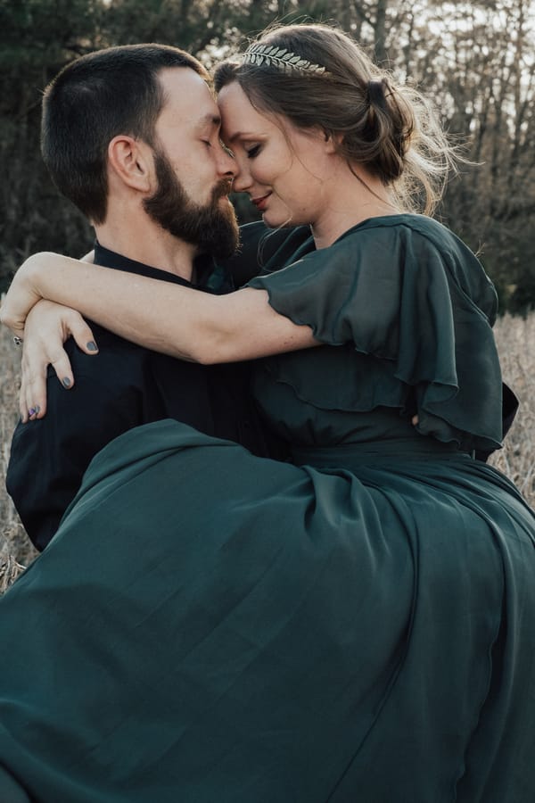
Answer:
[(211, 295), (57, 254), (35, 254), (19, 269), (2, 305), (3, 322), (21, 335), (41, 298), (153, 351), (204, 364), (317, 345), (310, 327), (270, 307), (264, 290)]

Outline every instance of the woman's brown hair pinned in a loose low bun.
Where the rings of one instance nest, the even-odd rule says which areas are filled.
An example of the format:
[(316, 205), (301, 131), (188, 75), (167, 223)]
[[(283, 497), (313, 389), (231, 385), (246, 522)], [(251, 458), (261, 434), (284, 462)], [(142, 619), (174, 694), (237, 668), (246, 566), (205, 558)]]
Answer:
[(216, 91), (237, 81), (259, 111), (282, 115), (296, 128), (322, 128), (350, 165), (365, 166), (391, 188), (401, 210), (432, 213), (457, 151), (423, 95), (327, 25), (269, 29), (259, 43), (325, 71), (227, 61), (215, 71)]

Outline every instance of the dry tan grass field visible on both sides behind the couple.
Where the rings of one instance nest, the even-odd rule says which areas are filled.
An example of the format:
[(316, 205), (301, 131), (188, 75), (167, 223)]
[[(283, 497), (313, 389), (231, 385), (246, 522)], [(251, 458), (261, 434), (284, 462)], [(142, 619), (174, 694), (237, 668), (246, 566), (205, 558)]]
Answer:
[[(519, 396), (521, 408), (504, 448), (491, 462), (535, 507), (535, 313), (528, 319), (500, 319), (496, 336), (504, 378)], [(11, 335), (0, 327), (0, 593), (36, 555), (4, 488), (12, 430), (18, 418), (20, 358)], [(39, 467), (34, 470), (37, 473)]]

